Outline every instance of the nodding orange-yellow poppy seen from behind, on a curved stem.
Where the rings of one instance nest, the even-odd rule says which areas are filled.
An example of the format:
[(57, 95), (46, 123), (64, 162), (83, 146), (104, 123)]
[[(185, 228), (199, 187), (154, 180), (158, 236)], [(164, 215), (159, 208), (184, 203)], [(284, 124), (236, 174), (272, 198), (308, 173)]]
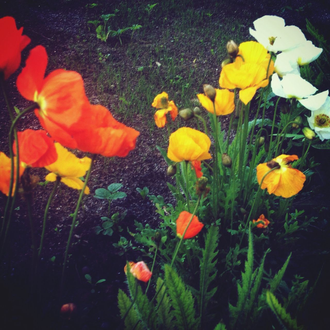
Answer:
[(270, 169), (277, 167), (276, 170), (270, 172), (264, 178), (261, 189), (267, 188), (269, 194), (275, 194), (284, 198), (297, 194), (303, 188), (306, 176), (287, 164), (297, 159), (297, 155), (280, 155), (267, 163), (259, 164), (257, 166), (257, 180), (259, 184)]

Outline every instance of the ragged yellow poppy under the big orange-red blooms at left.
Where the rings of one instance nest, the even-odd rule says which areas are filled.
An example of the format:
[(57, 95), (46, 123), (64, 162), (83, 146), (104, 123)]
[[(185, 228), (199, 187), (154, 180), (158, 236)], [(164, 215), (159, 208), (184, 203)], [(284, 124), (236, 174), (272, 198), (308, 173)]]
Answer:
[[(58, 142), (55, 143), (57, 160), (45, 166), (49, 173), (45, 180), (56, 181), (56, 177), (61, 177), (61, 182), (74, 189), (82, 189), (83, 177), (90, 167), (91, 159), (89, 157), (78, 158), (72, 152), (62, 147)], [(86, 186), (85, 194), (89, 194), (89, 188)]]

